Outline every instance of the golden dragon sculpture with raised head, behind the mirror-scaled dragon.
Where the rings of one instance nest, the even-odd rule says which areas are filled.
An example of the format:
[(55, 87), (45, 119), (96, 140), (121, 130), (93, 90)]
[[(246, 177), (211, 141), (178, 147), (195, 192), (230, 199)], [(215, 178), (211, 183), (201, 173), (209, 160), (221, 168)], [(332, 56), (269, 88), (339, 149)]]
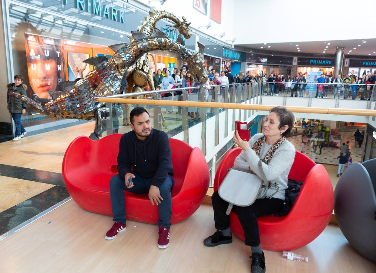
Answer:
[[(167, 11), (156, 11), (155, 8), (152, 8), (149, 11), (150, 16), (145, 17), (145, 21), (141, 21), (142, 25), (138, 26), (137, 29), (139, 32), (144, 33), (147, 36), (153, 36), (155, 34), (155, 26), (156, 23), (161, 19), (167, 19), (168, 21), (172, 21), (174, 23), (174, 28), (179, 31), (184, 38), (189, 39), (192, 36), (190, 32), (190, 24), (187, 23), (186, 18), (182, 17), (183, 21), (180, 21), (175, 15), (171, 14)], [(130, 41), (133, 41), (133, 36), (128, 37)], [(144, 91), (144, 87), (149, 83), (149, 86), (152, 90), (154, 90), (154, 80), (153, 80), (153, 72), (150, 68), (149, 59), (147, 54), (141, 56), (138, 61), (133, 64), (127, 70), (127, 93), (132, 92), (142, 92)], [(134, 86), (133, 86), (134, 85)], [(130, 124), (129, 121), (129, 111), (130, 105), (126, 106), (127, 113), (123, 113), (126, 116), (126, 125)], [(162, 125), (164, 127), (168, 126), (168, 123), (165, 122), (163, 113), (162, 113)]]

